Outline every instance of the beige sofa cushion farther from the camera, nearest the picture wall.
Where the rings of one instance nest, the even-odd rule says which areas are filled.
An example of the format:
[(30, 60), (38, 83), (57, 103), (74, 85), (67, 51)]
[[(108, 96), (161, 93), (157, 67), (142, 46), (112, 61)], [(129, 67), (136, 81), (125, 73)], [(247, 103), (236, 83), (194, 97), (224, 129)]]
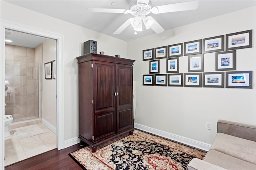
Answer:
[(256, 164), (256, 142), (217, 133), (211, 149)]

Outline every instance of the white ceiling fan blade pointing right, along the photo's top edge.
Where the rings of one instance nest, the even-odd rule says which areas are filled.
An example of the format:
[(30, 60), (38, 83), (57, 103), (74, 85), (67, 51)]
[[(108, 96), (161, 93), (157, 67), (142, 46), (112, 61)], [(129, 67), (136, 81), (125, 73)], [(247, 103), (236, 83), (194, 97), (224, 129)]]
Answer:
[(198, 0), (195, 0), (195, 1), (189, 1), (189, 2), (181, 2), (177, 4), (156, 6), (152, 8), (152, 13), (161, 14), (161, 13), (167, 13), (167, 12), (195, 10), (197, 7), (198, 7)]

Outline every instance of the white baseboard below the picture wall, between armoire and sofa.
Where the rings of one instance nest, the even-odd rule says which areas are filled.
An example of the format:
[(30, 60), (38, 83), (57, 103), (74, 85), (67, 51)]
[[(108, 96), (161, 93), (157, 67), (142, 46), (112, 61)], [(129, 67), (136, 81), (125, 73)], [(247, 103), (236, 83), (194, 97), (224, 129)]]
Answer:
[(138, 123), (134, 123), (134, 128), (137, 128), (139, 130), (143, 130), (145, 132), (149, 132), (149, 133), (155, 134), (157, 136), (161, 136), (163, 138), (167, 138), (167, 139), (170, 139), (170, 140), (173, 140), (173, 141), (176, 141), (176, 142), (180, 142), (182, 144), (192, 146), (194, 148), (205, 150), (205, 151), (208, 151), (211, 147), (210, 144), (200, 142), (198, 140), (193, 140), (193, 139), (190, 139), (190, 138), (186, 138), (184, 136), (179, 136), (177, 134), (164, 132), (162, 130), (158, 130), (158, 129), (155, 129), (155, 128), (150, 128), (150, 127), (147, 127), (147, 126), (144, 126), (144, 125), (140, 125)]

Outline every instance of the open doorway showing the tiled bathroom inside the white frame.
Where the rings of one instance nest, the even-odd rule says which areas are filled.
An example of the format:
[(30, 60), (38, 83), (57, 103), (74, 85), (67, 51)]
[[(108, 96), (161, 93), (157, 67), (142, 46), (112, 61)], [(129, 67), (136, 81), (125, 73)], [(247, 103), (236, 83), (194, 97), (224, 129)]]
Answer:
[[(5, 41), (7, 166), (56, 148), (56, 40), (6, 29)], [(48, 79), (43, 78), (42, 63), (50, 65)]]

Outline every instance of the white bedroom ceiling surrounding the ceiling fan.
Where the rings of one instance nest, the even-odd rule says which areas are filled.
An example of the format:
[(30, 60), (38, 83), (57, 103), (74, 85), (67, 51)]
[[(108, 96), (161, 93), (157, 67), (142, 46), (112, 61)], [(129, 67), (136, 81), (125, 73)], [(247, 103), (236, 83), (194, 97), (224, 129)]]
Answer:
[[(87, 8), (120, 8), (129, 9), (136, 0), (6, 0), (9, 3), (94, 30), (124, 41), (131, 41), (155, 34), (153, 30), (143, 28), (134, 35), (132, 26), (128, 26), (121, 34), (113, 35), (131, 14), (92, 13)], [(114, 2), (114, 5), (113, 5)], [(186, 2), (184, 0), (150, 0), (154, 6)], [(149, 14), (165, 30), (206, 20), (215, 16), (230, 13), (250, 6), (255, 6), (256, 0), (199, 0), (196, 10), (170, 12), (164, 14)]]

